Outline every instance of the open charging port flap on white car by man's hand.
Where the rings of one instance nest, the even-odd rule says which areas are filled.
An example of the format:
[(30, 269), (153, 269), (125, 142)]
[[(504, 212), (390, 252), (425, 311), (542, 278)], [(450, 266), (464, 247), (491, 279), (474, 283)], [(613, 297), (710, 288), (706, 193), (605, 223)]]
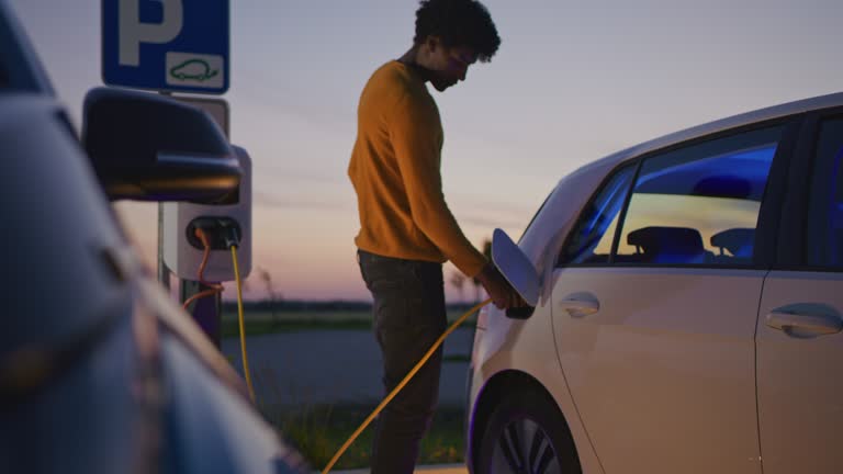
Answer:
[(507, 309), (506, 315), (516, 319), (529, 317), (539, 303), (539, 275), (530, 259), (499, 228), (492, 234), (492, 262), (521, 298), (530, 305), (527, 308)]

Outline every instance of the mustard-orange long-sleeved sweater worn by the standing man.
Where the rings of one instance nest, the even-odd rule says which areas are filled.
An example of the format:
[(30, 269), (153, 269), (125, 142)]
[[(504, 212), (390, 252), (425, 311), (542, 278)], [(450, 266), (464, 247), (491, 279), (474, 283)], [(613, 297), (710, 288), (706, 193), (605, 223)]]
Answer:
[(358, 106), (348, 176), (360, 212), (358, 248), (386, 257), (443, 262), (469, 276), (486, 263), (448, 208), (439, 172), (442, 124), (418, 71), (379, 68)]

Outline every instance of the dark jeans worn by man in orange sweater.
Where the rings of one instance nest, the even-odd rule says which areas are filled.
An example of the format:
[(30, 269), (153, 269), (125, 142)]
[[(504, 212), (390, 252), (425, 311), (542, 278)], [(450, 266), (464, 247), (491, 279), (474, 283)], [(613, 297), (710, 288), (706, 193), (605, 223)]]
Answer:
[[(360, 271), (374, 297), (374, 335), (383, 354), (385, 394), (404, 379), (445, 332), (440, 263), (395, 259), (358, 250)], [(419, 442), (439, 398), (442, 348), (378, 417), (372, 474), (412, 474)]]

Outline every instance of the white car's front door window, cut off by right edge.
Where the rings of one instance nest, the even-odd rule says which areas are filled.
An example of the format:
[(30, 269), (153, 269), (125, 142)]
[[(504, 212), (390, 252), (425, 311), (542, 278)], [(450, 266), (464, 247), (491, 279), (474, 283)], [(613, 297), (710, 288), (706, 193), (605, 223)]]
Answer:
[(820, 124), (808, 210), (808, 264), (843, 268), (843, 117)]

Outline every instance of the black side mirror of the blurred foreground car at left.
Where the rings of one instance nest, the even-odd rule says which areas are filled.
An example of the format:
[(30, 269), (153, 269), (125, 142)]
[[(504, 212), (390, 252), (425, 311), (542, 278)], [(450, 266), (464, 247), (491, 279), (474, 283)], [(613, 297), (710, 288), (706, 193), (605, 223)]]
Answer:
[(112, 201), (214, 203), (240, 182), (239, 162), (213, 119), (164, 95), (91, 89), (82, 146)]

